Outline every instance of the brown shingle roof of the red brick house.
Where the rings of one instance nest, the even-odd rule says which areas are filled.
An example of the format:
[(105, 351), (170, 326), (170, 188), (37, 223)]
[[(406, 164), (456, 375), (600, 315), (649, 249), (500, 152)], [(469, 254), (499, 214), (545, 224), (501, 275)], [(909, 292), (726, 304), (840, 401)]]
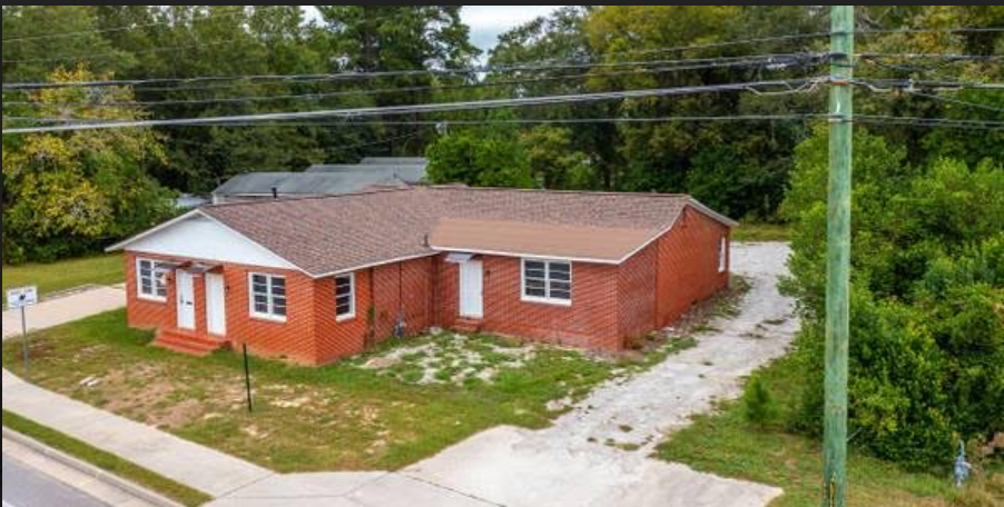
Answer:
[[(628, 242), (638, 242), (637, 248), (644, 238), (667, 230), (688, 203), (731, 223), (682, 195), (467, 187), (415, 187), (324, 198), (238, 202), (208, 206), (201, 211), (307, 274), (323, 276), (431, 255), (429, 235), (441, 219), (446, 223), (451, 219), (466, 219), (501, 220), (510, 226), (514, 222), (564, 225), (579, 231), (583, 228), (616, 229), (619, 231), (617, 251), (593, 252), (610, 257), (623, 251)], [(548, 255), (547, 251), (560, 250), (562, 256), (592, 257), (584, 252), (571, 255), (575, 249), (585, 248), (580, 239), (567, 247), (554, 241), (534, 246), (525, 242), (531, 236), (528, 232), (520, 239), (521, 246), (531, 249), (525, 254)], [(483, 238), (501, 241), (491, 233)], [(597, 242), (604, 241), (607, 239)]]

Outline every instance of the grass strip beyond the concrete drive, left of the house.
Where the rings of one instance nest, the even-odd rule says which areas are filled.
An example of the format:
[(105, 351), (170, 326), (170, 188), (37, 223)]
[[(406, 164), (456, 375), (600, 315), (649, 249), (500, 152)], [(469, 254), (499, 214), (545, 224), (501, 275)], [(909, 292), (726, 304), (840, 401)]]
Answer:
[(121, 254), (67, 259), (51, 264), (3, 266), (3, 302), (7, 288), (37, 285), (39, 296), (87, 284), (110, 285), (126, 279)]

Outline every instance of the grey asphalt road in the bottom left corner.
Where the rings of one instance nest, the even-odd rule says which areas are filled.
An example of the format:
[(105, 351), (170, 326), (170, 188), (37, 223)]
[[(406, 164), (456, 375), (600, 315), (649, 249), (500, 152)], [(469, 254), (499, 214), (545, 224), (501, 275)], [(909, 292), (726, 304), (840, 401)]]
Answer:
[(3, 507), (108, 507), (3, 453)]

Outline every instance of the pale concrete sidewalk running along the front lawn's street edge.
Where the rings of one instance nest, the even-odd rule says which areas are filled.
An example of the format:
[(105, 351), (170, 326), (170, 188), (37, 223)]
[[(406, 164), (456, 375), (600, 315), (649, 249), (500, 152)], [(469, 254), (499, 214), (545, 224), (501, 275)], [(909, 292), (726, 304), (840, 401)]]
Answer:
[(209, 505), (491, 507), (495, 504), (386, 471), (279, 475), (67, 398), (3, 370), (3, 408), (217, 498)]

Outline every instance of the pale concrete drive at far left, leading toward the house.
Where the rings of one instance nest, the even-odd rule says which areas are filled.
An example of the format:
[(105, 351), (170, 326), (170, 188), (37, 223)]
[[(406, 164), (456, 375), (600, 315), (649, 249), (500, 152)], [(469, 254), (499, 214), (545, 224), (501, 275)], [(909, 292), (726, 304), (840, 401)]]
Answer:
[[(69, 290), (26, 308), (28, 330), (45, 329), (126, 306), (126, 289), (93, 286)], [(3, 310), (3, 339), (21, 335), (21, 311)]]

